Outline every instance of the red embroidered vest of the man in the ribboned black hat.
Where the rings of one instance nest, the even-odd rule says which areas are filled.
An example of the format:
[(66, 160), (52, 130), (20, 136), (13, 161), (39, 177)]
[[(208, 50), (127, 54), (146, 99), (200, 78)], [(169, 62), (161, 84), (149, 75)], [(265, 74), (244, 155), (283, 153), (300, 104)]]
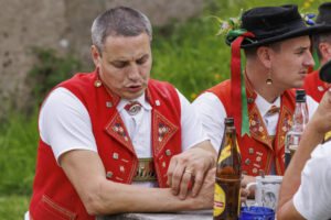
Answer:
[[(231, 108), (231, 80), (225, 80), (207, 91), (215, 94), (222, 101), (227, 117)], [(249, 114), (250, 136), (237, 135), (242, 153), (243, 173), (257, 176), (259, 169), (268, 174), (275, 160), (277, 175), (284, 175), (284, 142), (285, 134), (292, 124), (292, 113), (296, 107), (295, 90), (287, 90), (281, 95), (280, 113), (275, 140), (268, 135), (267, 128), (255, 105), (256, 94), (246, 80), (247, 105)]]

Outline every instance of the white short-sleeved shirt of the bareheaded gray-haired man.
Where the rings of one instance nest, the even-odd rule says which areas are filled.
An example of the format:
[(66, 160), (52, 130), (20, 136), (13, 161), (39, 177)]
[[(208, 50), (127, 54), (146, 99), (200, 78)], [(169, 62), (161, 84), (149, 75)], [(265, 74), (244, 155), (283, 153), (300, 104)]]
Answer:
[[(181, 103), (182, 151), (207, 140), (200, 118), (193, 106), (177, 90)], [(130, 116), (124, 109), (128, 100), (121, 99), (117, 106), (128, 130), (132, 145), (139, 158), (152, 157), (151, 151), (151, 106), (145, 95), (138, 100), (142, 109)], [(89, 150), (97, 152), (92, 122), (85, 106), (65, 88), (53, 90), (39, 117), (39, 130), (43, 142), (52, 146), (54, 156), (58, 157), (71, 150)]]

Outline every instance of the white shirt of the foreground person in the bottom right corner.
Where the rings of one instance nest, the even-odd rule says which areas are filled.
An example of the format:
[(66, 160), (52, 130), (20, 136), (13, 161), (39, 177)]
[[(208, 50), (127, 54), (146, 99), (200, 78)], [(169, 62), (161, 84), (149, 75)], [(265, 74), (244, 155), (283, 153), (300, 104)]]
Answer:
[(318, 145), (301, 173), (293, 196), (298, 212), (309, 220), (331, 219), (331, 142)]

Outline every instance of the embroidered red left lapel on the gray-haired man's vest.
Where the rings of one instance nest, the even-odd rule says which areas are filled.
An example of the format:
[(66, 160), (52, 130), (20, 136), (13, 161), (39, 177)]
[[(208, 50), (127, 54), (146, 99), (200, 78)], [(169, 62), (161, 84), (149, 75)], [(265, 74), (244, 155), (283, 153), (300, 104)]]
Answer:
[(135, 152), (130, 136), (118, 112), (106, 127), (106, 130), (114, 139)]

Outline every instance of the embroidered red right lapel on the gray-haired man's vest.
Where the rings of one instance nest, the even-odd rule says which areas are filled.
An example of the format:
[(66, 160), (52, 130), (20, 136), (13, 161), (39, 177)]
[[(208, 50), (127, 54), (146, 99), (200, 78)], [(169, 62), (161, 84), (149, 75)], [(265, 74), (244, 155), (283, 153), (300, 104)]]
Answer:
[(160, 114), (157, 110), (153, 117), (153, 146), (156, 155), (167, 144), (170, 138), (178, 131), (178, 128), (171, 123), (166, 117)]

